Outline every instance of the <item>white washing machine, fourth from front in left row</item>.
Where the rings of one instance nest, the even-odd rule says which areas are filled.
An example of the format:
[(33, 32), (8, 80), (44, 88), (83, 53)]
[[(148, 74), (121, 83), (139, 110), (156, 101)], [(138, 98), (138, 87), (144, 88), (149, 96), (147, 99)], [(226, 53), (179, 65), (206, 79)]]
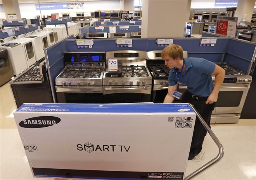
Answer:
[(40, 36), (27, 36), (24, 39), (30, 39), (33, 43), (36, 55), (36, 61), (45, 57), (45, 52), (43, 51), (43, 41)]

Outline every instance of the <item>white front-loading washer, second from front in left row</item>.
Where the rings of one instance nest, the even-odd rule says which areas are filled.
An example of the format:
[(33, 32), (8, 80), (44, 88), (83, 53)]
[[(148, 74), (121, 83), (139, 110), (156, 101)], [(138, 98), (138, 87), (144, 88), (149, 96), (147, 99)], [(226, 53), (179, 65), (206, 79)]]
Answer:
[(12, 63), (13, 73), (15, 76), (19, 75), (22, 71), (26, 70), (27, 63), (24, 54), (24, 48), (21, 43), (18, 42), (6, 42), (0, 44), (0, 47), (7, 49), (9, 59)]

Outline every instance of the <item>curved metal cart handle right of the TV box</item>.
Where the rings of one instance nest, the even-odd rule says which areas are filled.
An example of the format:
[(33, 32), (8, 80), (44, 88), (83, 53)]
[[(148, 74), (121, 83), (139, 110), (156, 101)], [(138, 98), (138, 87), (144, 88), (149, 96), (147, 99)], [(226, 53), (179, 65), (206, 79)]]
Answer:
[(219, 153), (218, 155), (212, 159), (211, 161), (209, 161), (208, 163), (206, 163), (205, 165), (203, 165), (202, 167), (200, 167), (199, 169), (195, 170), (194, 172), (192, 172), (190, 175), (188, 175), (187, 177), (184, 178), (184, 180), (189, 180), (194, 178), (195, 176), (199, 175), (200, 173), (204, 172), (205, 170), (207, 170), (208, 168), (210, 168), (211, 166), (213, 166), (214, 164), (218, 163), (218, 161), (221, 160), (221, 158), (224, 155), (224, 148), (222, 146), (222, 144), (220, 143), (219, 139), (215, 136), (215, 134), (213, 133), (213, 131), (209, 128), (209, 126), (206, 124), (206, 122), (204, 121), (204, 119), (202, 119), (201, 115), (197, 112), (197, 110), (194, 108), (194, 105), (190, 104), (191, 108), (194, 110), (195, 114), (197, 115), (198, 119), (200, 120), (200, 122), (202, 123), (202, 125), (204, 126), (204, 128), (206, 129), (206, 131), (209, 133), (209, 135), (211, 136), (211, 138), (213, 139), (213, 141), (217, 144), (218, 148), (219, 148)]

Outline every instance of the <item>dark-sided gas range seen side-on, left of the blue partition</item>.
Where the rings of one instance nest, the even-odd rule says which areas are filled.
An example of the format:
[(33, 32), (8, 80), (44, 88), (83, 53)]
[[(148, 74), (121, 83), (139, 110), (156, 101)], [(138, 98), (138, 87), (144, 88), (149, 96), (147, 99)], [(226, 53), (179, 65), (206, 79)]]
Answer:
[(14, 99), (19, 108), (23, 103), (53, 103), (45, 59), (10, 81)]

